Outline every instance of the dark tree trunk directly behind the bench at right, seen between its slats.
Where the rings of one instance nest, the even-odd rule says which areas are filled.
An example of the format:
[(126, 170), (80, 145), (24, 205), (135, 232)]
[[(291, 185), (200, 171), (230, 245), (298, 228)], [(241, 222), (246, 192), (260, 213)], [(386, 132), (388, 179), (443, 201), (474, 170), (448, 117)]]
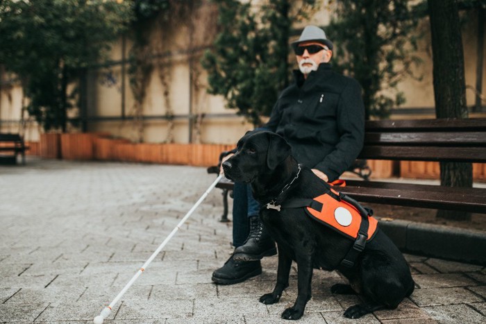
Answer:
[[(432, 35), (435, 114), (437, 118), (468, 118), (464, 53), (456, 0), (428, 0)], [(472, 165), (440, 163), (440, 184), (472, 187)], [(469, 220), (467, 212), (439, 210), (437, 217)]]

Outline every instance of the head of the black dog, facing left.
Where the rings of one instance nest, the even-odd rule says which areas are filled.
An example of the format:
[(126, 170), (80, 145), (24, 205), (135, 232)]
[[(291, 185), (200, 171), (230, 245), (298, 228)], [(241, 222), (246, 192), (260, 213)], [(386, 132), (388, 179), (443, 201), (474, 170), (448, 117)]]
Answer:
[(252, 130), (237, 143), (237, 153), (223, 163), (226, 178), (252, 182), (262, 174), (271, 174), (290, 154), (290, 145), (275, 133)]

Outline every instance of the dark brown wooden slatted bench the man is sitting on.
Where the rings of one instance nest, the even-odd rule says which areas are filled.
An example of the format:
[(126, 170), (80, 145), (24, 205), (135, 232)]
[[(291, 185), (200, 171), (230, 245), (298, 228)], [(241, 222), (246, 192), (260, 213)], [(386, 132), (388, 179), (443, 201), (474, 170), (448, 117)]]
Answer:
[[(367, 121), (362, 160), (486, 162), (486, 119)], [(233, 182), (216, 186), (231, 190)], [(486, 213), (486, 188), (346, 180), (336, 187), (363, 203)]]

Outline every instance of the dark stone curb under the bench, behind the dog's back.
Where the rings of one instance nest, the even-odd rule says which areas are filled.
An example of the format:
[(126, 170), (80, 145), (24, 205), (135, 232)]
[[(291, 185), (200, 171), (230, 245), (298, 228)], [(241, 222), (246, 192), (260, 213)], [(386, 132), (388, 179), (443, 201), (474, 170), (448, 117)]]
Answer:
[(486, 266), (486, 232), (412, 221), (378, 221), (404, 253)]

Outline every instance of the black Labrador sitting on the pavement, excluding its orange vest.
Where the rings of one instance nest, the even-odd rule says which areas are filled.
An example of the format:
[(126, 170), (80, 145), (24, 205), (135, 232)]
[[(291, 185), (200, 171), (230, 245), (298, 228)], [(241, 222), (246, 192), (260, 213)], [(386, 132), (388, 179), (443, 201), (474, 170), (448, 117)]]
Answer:
[[(237, 153), (224, 162), (223, 169), (231, 180), (251, 182), (253, 196), (262, 204), (262, 222), (278, 244), (276, 286), (260, 302), (278, 302), (288, 287), (292, 260), (298, 265), (299, 293), (294, 306), (283, 312), (283, 318), (299, 319), (303, 315), (311, 297), (312, 268), (337, 270), (349, 280), (349, 285), (335, 284), (333, 293), (364, 296), (363, 304), (346, 309), (344, 316), (348, 318), (359, 318), (378, 309), (395, 309), (414, 290), (403, 255), (379, 229), (369, 241), (364, 236), (365, 244), (360, 242), (364, 250), (360, 252), (353, 248), (358, 240), (321, 225), (305, 212), (305, 207), (295, 205), (295, 201), (312, 201), (329, 192), (330, 186), (296, 162), (283, 137), (267, 131), (246, 133), (237, 144)], [(285, 207), (288, 201), (294, 205)], [(364, 210), (360, 206), (358, 209)], [(343, 259), (350, 254), (351, 262), (346, 264)]]

